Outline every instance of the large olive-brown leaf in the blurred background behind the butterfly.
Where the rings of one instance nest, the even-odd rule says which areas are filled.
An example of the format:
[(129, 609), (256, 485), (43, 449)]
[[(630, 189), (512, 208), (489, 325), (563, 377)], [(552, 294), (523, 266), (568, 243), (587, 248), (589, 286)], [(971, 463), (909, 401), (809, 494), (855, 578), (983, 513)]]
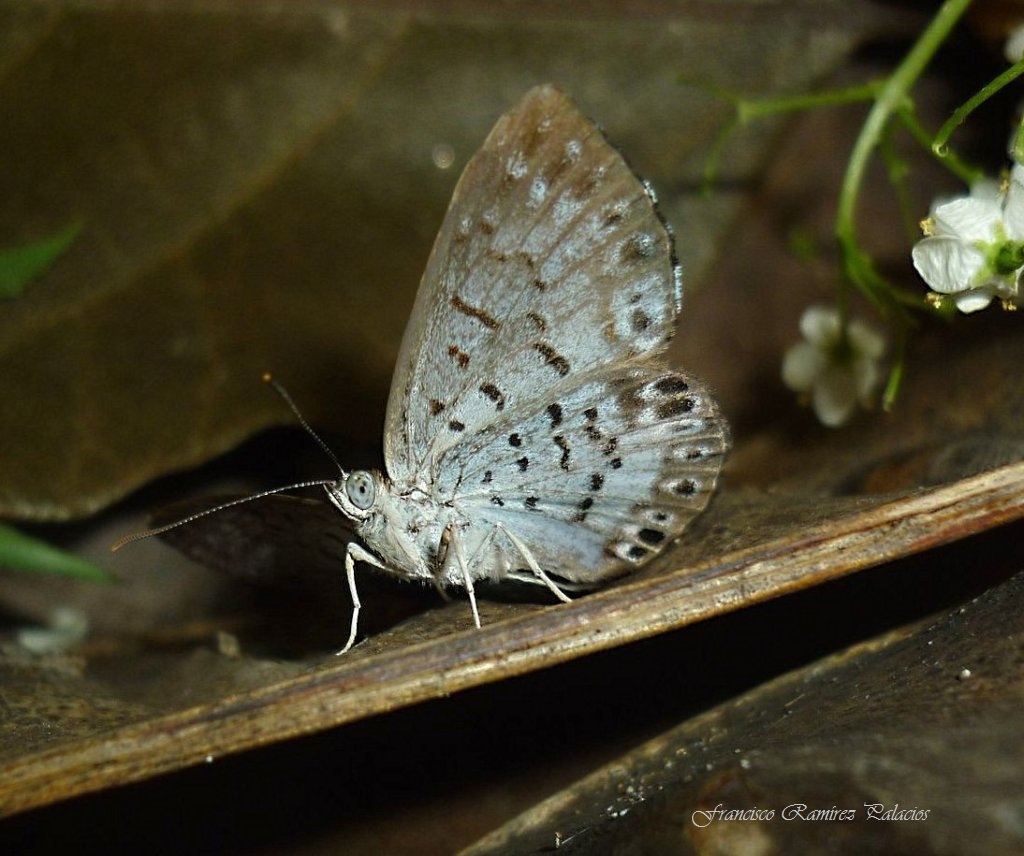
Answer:
[[(859, 5), (581, 19), (4, 0), (0, 243), (83, 229), (0, 316), (16, 402), (0, 514), (79, 517), (290, 422), (268, 370), (321, 428), (376, 439), (458, 173), (536, 83), (571, 92), (653, 180), (695, 273), (739, 195), (687, 192), (728, 108), (678, 77), (806, 88), (891, 17)], [(723, 187), (757, 174), (770, 130), (735, 147)]]

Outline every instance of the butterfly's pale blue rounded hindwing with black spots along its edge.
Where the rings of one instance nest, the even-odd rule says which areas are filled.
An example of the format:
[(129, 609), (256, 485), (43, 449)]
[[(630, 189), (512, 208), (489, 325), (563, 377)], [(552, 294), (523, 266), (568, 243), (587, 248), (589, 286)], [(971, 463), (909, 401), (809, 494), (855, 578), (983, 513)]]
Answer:
[(703, 509), (725, 445), (718, 409), (692, 378), (612, 368), (485, 431), (467, 454), (452, 450), (437, 487), (472, 519), (514, 531), (547, 570), (598, 582), (649, 558)]

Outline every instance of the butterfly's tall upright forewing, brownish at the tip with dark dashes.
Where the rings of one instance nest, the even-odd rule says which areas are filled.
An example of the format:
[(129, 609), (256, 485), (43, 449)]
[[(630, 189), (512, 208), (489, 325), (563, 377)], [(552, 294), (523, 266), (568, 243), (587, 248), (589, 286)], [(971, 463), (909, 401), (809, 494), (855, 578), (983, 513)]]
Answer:
[(467, 165), (434, 244), (388, 402), (389, 474), (429, 483), (447, 450), (538, 395), (656, 353), (678, 307), (644, 184), (565, 95), (531, 90)]

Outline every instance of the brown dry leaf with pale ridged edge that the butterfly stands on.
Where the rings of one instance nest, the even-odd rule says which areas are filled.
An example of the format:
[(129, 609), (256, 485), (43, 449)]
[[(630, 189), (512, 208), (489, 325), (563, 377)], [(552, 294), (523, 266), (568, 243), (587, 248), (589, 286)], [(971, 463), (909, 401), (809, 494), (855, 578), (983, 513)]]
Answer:
[[(488, 603), (482, 631), (453, 632), (468, 622), (465, 604), (451, 604), (341, 659), (217, 651), (213, 628), (201, 629), (210, 641), (185, 655), (175, 653), (182, 638), (49, 660), (8, 647), (0, 809), (133, 781), (682, 627), (1019, 517), (1022, 498), (1020, 464), (892, 502), (822, 500), (811, 509), (737, 493), (702, 518), (685, 550), (626, 585), (554, 607)], [(697, 563), (702, 549), (714, 558)], [(338, 623), (339, 639), (343, 632)]]

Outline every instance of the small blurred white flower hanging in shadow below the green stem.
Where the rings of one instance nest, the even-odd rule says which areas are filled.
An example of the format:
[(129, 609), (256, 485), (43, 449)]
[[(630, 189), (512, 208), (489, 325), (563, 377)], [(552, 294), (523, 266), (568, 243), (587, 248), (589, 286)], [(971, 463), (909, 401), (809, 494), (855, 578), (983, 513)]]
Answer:
[(817, 418), (838, 428), (858, 401), (870, 402), (885, 339), (858, 320), (850, 322), (844, 335), (839, 310), (824, 306), (804, 311), (800, 332), (807, 341), (786, 351), (782, 381), (797, 392), (810, 393)]

